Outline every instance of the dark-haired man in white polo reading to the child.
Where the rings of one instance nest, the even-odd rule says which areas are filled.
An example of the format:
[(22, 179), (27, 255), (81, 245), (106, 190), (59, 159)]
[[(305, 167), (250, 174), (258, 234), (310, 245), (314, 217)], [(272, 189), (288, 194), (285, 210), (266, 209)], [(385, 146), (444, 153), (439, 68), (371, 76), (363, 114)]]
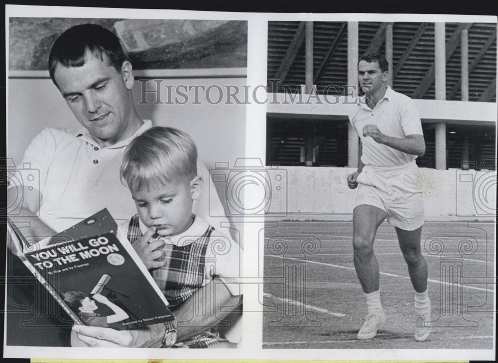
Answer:
[[(63, 231), (103, 208), (108, 208), (118, 222), (133, 216), (136, 208), (128, 188), (120, 181), (119, 169), (128, 143), (152, 126), (151, 121), (142, 121), (135, 110), (131, 95), (134, 82), (131, 64), (118, 37), (111, 31), (95, 24), (77, 25), (66, 30), (52, 46), (49, 72), (83, 127), (78, 130), (45, 128), (32, 140), (23, 157), (23, 163), (30, 163), (32, 169), (40, 172), (39, 191), (28, 191), (28, 187), (22, 185), (8, 189), (9, 205), (17, 196), (24, 195), (18, 217), (9, 217), (14, 223), (29, 222), (29, 229), (25, 228), (23, 232), (33, 240)], [(202, 162), (198, 163), (198, 172), (204, 180), (212, 182)], [(41, 203), (36, 198), (38, 195)], [(208, 201), (208, 196), (208, 193), (203, 193), (197, 206), (193, 207), (194, 213), (212, 225), (220, 226), (220, 222), (228, 220), (213, 221), (208, 209), (211, 212), (216, 210), (211, 215), (223, 216), (223, 207), (219, 199)], [(16, 257), (9, 260), (13, 264), (19, 262)], [(19, 273), (26, 272), (22, 267), (18, 269)], [(207, 285), (197, 293), (214, 291), (216, 299), (215, 296), (210, 298), (217, 305), (217, 309), (212, 309), (216, 310), (215, 315), (193, 314), (195, 299), (187, 300), (174, 315), (178, 321), (191, 316), (194, 318), (189, 320), (189, 326), (178, 327), (178, 341), (202, 332), (203, 327), (216, 325), (223, 316), (219, 309), (221, 306), (239, 303), (238, 297), (232, 296), (223, 283), (211, 283), (215, 284), (214, 288)], [(25, 319), (40, 309), (33, 307), (33, 296), (29, 296), (27, 290), (29, 288), (17, 289), (12, 292), (15, 296), (9, 295), (9, 301), (31, 306), (32, 309), (22, 317), (15, 312), (6, 314), (7, 345), (68, 345), (71, 330), (67, 322), (60, 321), (59, 316), (39, 316), (37, 329), (20, 329)], [(22, 295), (22, 292), (25, 294)], [(61, 324), (66, 328), (61, 328)], [(85, 331), (84, 328), (91, 329)], [(134, 347), (160, 347), (166, 333), (162, 324), (134, 331), (83, 327), (79, 332), (91, 346)], [(75, 338), (73, 333), (71, 344), (79, 344)]]

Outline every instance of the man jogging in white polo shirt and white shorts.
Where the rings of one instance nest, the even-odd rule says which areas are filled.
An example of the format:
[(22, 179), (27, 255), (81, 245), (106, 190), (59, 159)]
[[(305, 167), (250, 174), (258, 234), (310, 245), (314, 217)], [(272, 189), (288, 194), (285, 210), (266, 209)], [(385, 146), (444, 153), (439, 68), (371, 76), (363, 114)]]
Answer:
[(386, 85), (387, 72), (388, 63), (382, 55), (360, 58), (358, 78), (365, 95), (350, 117), (361, 139), (358, 171), (348, 175), (349, 188), (358, 187), (353, 211), (354, 262), (368, 305), (357, 338), (373, 338), (386, 320), (373, 240), (387, 218), (396, 230), (415, 289), (415, 339), (425, 341), (431, 330), (431, 304), (427, 263), (420, 250), (424, 210), (415, 164), (417, 156), (425, 153), (425, 141), (413, 101)]

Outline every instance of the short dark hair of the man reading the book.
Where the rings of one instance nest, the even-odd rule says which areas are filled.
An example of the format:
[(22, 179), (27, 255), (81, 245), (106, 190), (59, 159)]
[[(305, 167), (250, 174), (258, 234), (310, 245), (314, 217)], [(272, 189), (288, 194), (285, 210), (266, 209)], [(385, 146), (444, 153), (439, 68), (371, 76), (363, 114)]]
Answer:
[(121, 72), (123, 62), (128, 60), (119, 38), (112, 31), (97, 24), (75, 25), (55, 40), (48, 56), (48, 71), (56, 86), (54, 72), (57, 64), (81, 67), (85, 64), (87, 50), (102, 61), (105, 54), (108, 64), (118, 72)]

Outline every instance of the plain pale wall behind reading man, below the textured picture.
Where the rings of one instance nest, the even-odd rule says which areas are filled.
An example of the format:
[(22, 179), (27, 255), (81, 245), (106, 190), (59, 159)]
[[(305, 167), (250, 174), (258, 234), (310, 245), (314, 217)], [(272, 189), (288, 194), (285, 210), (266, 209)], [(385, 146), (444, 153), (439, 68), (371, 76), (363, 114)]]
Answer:
[[(48, 74), (48, 73), (47, 73)], [(155, 77), (155, 79), (161, 79)], [(237, 86), (242, 89), (245, 77), (232, 78), (179, 78), (164, 79), (161, 85), (173, 86)], [(154, 89), (155, 82), (148, 80), (147, 89)], [(244, 157), (246, 145), (246, 105), (227, 105), (225, 102), (210, 104), (206, 102), (205, 93), (200, 91), (198, 102), (194, 104), (194, 91), (187, 92), (188, 102), (180, 104), (154, 104), (156, 97), (148, 94), (145, 105), (138, 103), (142, 98), (142, 84), (135, 81), (133, 97), (138, 114), (142, 119), (150, 119), (156, 125), (172, 126), (188, 132), (196, 141), (199, 157), (208, 168), (217, 161), (233, 163), (236, 158)], [(175, 93), (171, 95), (174, 101)], [(161, 101), (166, 103), (167, 90), (162, 89)], [(214, 102), (218, 99), (217, 89), (210, 93)], [(179, 98), (183, 101), (183, 98)], [(77, 127), (79, 123), (67, 107), (60, 92), (50, 79), (11, 78), (8, 82), (8, 124), (7, 156), (17, 164), (21, 161), (24, 150), (45, 127)]]

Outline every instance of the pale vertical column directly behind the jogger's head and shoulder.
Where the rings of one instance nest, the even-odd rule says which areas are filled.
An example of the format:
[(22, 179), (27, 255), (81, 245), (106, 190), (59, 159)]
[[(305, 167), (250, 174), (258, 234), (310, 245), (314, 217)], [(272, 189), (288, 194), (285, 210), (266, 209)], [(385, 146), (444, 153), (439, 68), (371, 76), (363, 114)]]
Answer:
[[(348, 88), (358, 95), (358, 21), (348, 21)], [(348, 122), (348, 166), (358, 167), (359, 137), (355, 128)]]

